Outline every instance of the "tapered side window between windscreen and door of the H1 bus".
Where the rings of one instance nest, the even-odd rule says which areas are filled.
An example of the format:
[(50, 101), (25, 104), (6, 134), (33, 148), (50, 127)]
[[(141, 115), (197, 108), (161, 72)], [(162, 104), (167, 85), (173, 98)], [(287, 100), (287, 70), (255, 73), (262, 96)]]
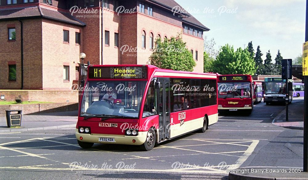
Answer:
[(143, 112), (150, 112), (153, 115), (157, 115), (157, 108), (156, 108), (156, 91), (154, 88), (154, 81), (151, 82), (145, 103)]

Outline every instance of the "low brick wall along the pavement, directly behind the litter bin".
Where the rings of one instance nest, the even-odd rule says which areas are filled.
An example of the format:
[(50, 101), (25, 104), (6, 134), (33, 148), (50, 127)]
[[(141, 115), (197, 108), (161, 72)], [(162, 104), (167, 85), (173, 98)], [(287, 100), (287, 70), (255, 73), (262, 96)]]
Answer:
[(31, 113), (76, 111), (78, 110), (78, 103), (0, 105), (0, 116), (6, 116), (6, 110), (22, 110), (23, 115)]

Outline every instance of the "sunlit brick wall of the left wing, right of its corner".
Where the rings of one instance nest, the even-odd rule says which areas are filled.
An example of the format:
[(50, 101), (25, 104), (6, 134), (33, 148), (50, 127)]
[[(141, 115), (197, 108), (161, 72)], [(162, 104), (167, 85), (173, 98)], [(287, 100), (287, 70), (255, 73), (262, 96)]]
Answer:
[[(69, 31), (69, 43), (63, 42), (63, 30)], [(83, 46), (75, 43), (82, 27), (43, 19), (43, 89), (70, 90), (76, 80), (76, 64)], [(81, 38), (81, 44), (83, 43)], [(69, 81), (63, 80), (63, 66), (69, 66)]]

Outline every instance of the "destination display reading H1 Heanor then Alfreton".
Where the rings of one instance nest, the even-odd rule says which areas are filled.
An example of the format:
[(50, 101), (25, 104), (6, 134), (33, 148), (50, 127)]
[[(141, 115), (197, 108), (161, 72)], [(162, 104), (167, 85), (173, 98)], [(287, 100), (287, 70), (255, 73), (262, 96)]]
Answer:
[(89, 67), (90, 79), (146, 79), (147, 67)]

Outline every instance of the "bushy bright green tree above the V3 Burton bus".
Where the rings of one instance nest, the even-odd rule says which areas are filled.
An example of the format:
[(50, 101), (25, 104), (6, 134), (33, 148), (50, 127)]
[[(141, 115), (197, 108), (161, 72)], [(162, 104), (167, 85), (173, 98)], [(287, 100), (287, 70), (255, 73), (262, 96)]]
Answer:
[(234, 52), (233, 46), (225, 45), (214, 61), (213, 70), (220, 74), (250, 74), (255, 73), (255, 63), (247, 49), (238, 48)]

